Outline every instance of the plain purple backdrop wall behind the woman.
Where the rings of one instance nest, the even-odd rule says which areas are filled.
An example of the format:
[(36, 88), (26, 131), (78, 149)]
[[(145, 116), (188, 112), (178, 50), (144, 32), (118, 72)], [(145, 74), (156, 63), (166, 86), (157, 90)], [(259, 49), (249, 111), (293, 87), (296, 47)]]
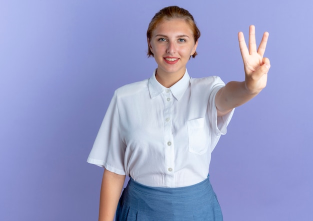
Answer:
[(237, 32), (270, 33), (267, 87), (212, 154), (224, 220), (312, 220), (311, 0), (0, 0), (0, 220), (97, 220), (86, 158), (113, 90), (156, 67), (145, 31), (173, 4), (201, 30), (192, 77), (243, 80)]

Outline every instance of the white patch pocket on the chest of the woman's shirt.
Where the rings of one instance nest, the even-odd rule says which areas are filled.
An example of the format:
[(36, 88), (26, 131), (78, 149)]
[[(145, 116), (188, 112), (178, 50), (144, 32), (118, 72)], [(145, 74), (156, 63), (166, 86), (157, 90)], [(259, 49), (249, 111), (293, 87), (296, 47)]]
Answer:
[(207, 151), (209, 134), (204, 122), (204, 117), (187, 121), (189, 152), (201, 155)]

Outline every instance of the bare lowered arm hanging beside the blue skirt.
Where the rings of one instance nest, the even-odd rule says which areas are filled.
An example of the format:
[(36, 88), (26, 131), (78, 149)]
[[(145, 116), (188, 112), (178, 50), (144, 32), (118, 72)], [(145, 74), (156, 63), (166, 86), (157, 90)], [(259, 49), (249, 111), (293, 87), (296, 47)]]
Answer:
[(124, 181), (124, 175), (104, 170), (100, 191), (99, 221), (113, 220)]

